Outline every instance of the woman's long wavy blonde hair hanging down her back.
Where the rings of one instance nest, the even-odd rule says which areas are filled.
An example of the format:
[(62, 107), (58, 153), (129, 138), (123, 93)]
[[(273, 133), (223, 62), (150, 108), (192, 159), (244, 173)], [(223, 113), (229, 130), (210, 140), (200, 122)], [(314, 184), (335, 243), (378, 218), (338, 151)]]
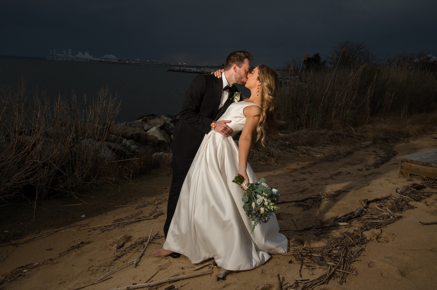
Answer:
[(262, 95), (260, 121), (257, 125), (257, 141), (261, 139), (261, 143), (264, 146), (264, 140), (266, 139), (266, 127), (267, 131), (271, 135), (275, 137), (280, 136), (277, 131), (278, 122), (275, 116), (277, 111), (277, 74), (267, 65), (258, 65), (258, 80), (261, 82)]

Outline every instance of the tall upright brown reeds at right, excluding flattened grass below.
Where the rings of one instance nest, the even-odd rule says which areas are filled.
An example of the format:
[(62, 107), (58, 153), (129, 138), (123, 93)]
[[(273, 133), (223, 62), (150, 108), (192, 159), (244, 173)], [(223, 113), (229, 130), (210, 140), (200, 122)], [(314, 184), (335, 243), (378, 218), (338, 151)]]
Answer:
[(283, 82), (277, 96), (282, 130), (362, 126), (376, 116), (403, 120), (437, 109), (435, 72), (401, 55), (293, 73), (298, 80)]

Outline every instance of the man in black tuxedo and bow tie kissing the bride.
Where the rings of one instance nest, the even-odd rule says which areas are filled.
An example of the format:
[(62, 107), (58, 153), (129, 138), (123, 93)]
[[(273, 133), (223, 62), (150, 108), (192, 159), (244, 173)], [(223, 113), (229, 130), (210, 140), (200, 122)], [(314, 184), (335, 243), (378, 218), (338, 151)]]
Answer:
[[(164, 225), (165, 237), (176, 210), (180, 189), (203, 137), (211, 129), (226, 137), (232, 134), (232, 129), (226, 125), (231, 121), (216, 122), (216, 120), (233, 102), (231, 98), (235, 92), (238, 92), (234, 84), (246, 84), (252, 58), (252, 54), (247, 51), (232, 52), (226, 58), (225, 72), (222, 72), (221, 78), (211, 74), (198, 75), (185, 93), (179, 113), (180, 120), (176, 124), (171, 144), (173, 178), (168, 197), (167, 220)], [(178, 258), (180, 254), (172, 253), (170, 256)]]

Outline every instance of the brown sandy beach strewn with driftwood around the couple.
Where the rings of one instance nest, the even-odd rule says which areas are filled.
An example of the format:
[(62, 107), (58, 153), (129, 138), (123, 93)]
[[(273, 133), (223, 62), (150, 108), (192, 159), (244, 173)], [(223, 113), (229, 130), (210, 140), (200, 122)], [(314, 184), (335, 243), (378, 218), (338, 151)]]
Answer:
[[(259, 178), (264, 177), (272, 187), (281, 188), (281, 200), (322, 196), (317, 204), (307, 203), (308, 206), (302, 207), (296, 206), (298, 203), (284, 203), (277, 211), (281, 232), (288, 237), (291, 249), (317, 247), (340, 232), (352, 232), (359, 224), (350, 223), (317, 235), (314, 235), (314, 230), (299, 230), (355, 211), (361, 206), (360, 199), (380, 198), (394, 194), (396, 187), (412, 182), (420, 184), (417, 178), (407, 181), (398, 176), (400, 161), (396, 157), (436, 148), (436, 139), (437, 134), (432, 134), (391, 145), (367, 144), (345, 157), (330, 161), (321, 157), (294, 156), (283, 160), (283, 166), (252, 166)], [(1, 233), (15, 233), (21, 238), (0, 247), (0, 280), (3, 280), (0, 289), (73, 290), (93, 283), (109, 270), (135, 259), (152, 228), (152, 243), (136, 268), (128, 265), (111, 273), (111, 279), (83, 289), (109, 290), (145, 283), (159, 269), (150, 281), (208, 269), (212, 274), (149, 289), (163, 290), (174, 284), (183, 290), (268, 290), (277, 289), (277, 274), (286, 287), (295, 280), (313, 279), (323, 273), (323, 268), (303, 266), (300, 278), (300, 262), (295, 256), (273, 255), (267, 263), (254, 270), (232, 273), (225, 280), (216, 281), (214, 275), (220, 268), (208, 265), (194, 270), (199, 265), (193, 265), (187, 257), (155, 257), (153, 251), (164, 242), (162, 229), (170, 181), (171, 171), (166, 169), (154, 171), (129, 184), (100, 187), (83, 193), (83, 196), (78, 196), (80, 200), (38, 201), (35, 221), (34, 209), (30, 205), (24, 207), (18, 202), (4, 205), (0, 208)], [(343, 285), (336, 279), (316, 289), (409, 290), (435, 287), (437, 225), (421, 225), (419, 222), (437, 220), (437, 195), (430, 195), (436, 190), (432, 187), (421, 189), (417, 194), (429, 197), (410, 201), (412, 209), (395, 213), (402, 218), (380, 230), (364, 232), (369, 241), (359, 259), (351, 265), (352, 274), (346, 277)], [(162, 215), (153, 217), (160, 211)], [(35, 236), (40, 237), (32, 238)], [(125, 246), (117, 250), (120, 242), (125, 242)], [(207, 262), (212, 261), (204, 263)]]

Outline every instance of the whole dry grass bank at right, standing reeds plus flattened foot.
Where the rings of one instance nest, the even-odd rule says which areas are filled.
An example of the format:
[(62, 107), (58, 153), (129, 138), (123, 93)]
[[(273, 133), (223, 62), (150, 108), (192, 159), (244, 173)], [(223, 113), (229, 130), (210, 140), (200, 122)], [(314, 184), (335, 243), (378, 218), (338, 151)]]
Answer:
[(399, 142), (436, 130), (434, 66), (413, 63), (412, 55), (379, 63), (350, 59), (341, 66), (335, 58), (325, 69), (290, 67), (277, 95), (283, 136), (267, 139), (266, 147), (254, 144), (253, 160), (278, 164), (290, 154), (326, 158), (362, 143)]

